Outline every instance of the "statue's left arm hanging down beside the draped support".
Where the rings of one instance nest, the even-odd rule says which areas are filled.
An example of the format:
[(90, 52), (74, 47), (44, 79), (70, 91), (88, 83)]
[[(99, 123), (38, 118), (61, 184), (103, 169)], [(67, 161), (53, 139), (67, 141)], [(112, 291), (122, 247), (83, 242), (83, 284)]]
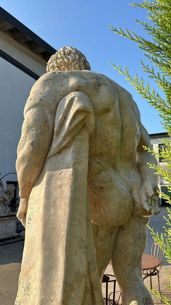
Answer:
[(24, 224), (28, 199), (47, 156), (54, 127), (56, 100), (43, 76), (34, 84), (24, 109), (16, 170), (21, 198), (17, 217)]

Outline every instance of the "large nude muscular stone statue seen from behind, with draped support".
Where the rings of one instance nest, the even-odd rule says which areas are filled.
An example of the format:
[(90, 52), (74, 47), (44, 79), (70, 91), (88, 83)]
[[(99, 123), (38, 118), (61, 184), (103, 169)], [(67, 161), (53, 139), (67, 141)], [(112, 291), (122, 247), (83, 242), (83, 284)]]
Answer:
[(151, 147), (132, 96), (63, 47), (24, 109), (16, 168), (26, 226), (16, 305), (103, 305), (111, 259), (123, 305), (152, 305), (142, 282), (147, 223), (160, 213)]

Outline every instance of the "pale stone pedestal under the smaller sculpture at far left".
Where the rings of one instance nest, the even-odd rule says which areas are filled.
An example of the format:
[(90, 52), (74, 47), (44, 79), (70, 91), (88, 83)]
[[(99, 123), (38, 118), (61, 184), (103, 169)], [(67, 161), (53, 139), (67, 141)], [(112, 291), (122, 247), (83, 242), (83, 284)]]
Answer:
[(15, 212), (0, 215), (0, 239), (18, 236), (17, 217)]

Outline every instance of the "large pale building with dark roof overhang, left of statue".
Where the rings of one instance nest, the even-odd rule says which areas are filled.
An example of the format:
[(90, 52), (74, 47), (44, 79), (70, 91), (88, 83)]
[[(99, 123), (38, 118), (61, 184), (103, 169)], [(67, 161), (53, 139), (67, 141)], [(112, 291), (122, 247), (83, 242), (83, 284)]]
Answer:
[[(46, 73), (47, 61), (56, 52), (44, 40), (30, 31), (0, 7), (0, 171), (1, 177), (16, 172), (16, 150), (21, 135), (23, 110), (30, 89)], [(17, 175), (2, 179), (5, 188), (16, 186)]]

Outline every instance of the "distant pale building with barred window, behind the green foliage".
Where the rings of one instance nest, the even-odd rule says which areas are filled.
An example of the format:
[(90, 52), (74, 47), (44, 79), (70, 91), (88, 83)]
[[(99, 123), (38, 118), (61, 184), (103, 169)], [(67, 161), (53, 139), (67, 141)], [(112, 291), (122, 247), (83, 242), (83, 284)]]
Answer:
[[(152, 147), (155, 152), (157, 152), (157, 150), (159, 148), (162, 148), (162, 147), (165, 148), (165, 144), (163, 144), (162, 138), (167, 139), (171, 142), (171, 138), (168, 136), (168, 134), (166, 132), (150, 134), (149, 136), (150, 136), (150, 141), (151, 141)], [(161, 140), (159, 140), (159, 139), (161, 139)], [(166, 170), (167, 163), (163, 162), (162, 160), (163, 160), (162, 158), (157, 158), (157, 164), (159, 167), (162, 167), (164, 170)], [(168, 184), (167, 181), (158, 177), (158, 185), (159, 185), (160, 191), (162, 191), (163, 193), (167, 194), (170, 197), (170, 193), (168, 192), (167, 186), (166, 186), (167, 184)], [(168, 205), (167, 203), (165, 203), (165, 199), (161, 199), (161, 198), (160, 198), (160, 204)]]

